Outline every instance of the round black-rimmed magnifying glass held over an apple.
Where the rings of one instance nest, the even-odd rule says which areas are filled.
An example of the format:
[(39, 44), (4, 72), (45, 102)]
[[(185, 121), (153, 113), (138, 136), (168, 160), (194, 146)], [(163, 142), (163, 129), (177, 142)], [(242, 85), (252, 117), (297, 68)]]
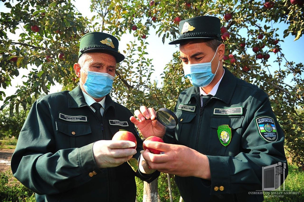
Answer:
[(156, 119), (167, 128), (175, 128), (178, 123), (177, 116), (167, 108), (160, 108), (156, 112)]

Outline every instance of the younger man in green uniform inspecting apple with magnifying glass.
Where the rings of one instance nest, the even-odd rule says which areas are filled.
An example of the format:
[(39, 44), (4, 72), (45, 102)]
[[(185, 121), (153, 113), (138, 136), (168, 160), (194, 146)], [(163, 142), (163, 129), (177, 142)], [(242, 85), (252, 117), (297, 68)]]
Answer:
[(164, 154), (146, 150), (143, 157), (151, 169), (175, 174), (186, 202), (263, 201), (250, 191), (262, 189), (262, 166), (286, 163), (284, 134), (267, 94), (223, 68), (220, 37), (216, 17), (181, 21), (180, 37), (171, 44), (180, 44), (193, 86), (178, 97), (176, 128), (165, 131), (154, 109), (144, 106), (134, 113), (139, 120), (130, 120), (145, 137), (164, 137), (167, 143), (145, 144)]

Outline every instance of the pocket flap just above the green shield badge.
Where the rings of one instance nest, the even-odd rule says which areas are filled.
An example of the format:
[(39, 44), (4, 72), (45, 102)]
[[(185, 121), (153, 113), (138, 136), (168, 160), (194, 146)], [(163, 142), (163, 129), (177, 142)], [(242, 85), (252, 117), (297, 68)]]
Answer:
[(211, 128), (218, 128), (219, 125), (229, 125), (233, 129), (240, 128), (243, 122), (244, 116), (242, 117), (212, 117)]

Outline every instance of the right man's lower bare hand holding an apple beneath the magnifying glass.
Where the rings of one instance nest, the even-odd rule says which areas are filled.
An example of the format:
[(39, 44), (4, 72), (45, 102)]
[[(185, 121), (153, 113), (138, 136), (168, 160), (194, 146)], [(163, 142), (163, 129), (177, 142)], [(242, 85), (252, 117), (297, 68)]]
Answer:
[(148, 148), (161, 150), (164, 154), (144, 152), (143, 158), (151, 169), (182, 177), (195, 176), (210, 180), (210, 167), (206, 155), (186, 146), (145, 141)]

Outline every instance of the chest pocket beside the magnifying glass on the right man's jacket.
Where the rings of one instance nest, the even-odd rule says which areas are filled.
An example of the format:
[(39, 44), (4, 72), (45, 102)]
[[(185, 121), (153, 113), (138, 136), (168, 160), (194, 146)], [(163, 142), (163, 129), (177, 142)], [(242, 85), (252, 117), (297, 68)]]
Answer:
[(176, 111), (175, 114), (178, 118), (178, 124), (175, 127), (177, 136), (175, 138), (180, 144), (188, 146), (196, 114), (181, 111)]

